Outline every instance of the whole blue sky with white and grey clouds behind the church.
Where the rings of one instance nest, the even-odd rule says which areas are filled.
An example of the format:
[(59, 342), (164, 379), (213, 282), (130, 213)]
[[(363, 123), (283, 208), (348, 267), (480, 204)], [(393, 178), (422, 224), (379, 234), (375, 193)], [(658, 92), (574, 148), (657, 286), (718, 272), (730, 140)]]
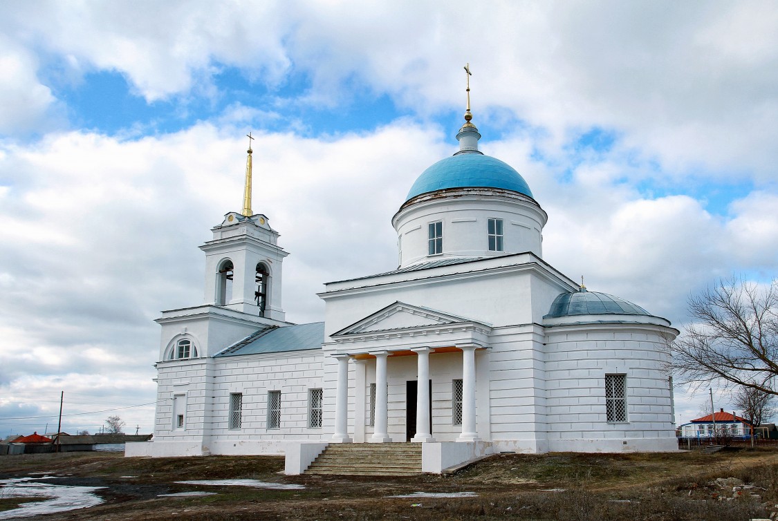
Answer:
[(151, 431), (152, 320), (202, 302), (248, 131), (289, 320), (395, 267), (466, 62), (481, 149), (569, 277), (681, 327), (716, 278), (778, 273), (774, 2), (0, 0), (0, 436), (55, 430), (61, 390), (66, 431)]

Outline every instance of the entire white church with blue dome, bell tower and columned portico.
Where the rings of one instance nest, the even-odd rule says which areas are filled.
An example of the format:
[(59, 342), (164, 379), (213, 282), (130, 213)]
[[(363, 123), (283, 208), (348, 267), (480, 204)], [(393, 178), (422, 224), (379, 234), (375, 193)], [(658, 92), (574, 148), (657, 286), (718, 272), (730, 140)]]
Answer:
[[(469, 93), (468, 93), (469, 96)], [(453, 156), (391, 218), (394, 271), (328, 282), (324, 322), (286, 322), (288, 255), (251, 212), (212, 229), (205, 302), (164, 311), (152, 442), (128, 456), (281, 454), (418, 442), (424, 470), (488, 453), (677, 449), (668, 320), (587, 291), (543, 260), (548, 216), (512, 167)], [(388, 216), (387, 216), (388, 217)]]

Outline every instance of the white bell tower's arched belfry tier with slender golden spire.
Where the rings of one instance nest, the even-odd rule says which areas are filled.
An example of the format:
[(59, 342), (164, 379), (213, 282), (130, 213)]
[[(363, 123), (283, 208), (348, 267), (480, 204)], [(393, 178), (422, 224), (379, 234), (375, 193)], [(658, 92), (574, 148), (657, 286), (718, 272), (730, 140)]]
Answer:
[(251, 134), (246, 159), (243, 210), (224, 215), (212, 228), (205, 252), (205, 304), (221, 306), (270, 320), (283, 321), (282, 264), (279, 233), (268, 218), (251, 211)]

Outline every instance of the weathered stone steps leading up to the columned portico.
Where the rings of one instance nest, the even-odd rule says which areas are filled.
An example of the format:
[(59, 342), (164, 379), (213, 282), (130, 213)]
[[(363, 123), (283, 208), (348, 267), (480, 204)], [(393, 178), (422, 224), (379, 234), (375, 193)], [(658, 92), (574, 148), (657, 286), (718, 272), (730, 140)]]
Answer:
[(421, 472), (421, 443), (331, 443), (305, 474), (412, 476)]

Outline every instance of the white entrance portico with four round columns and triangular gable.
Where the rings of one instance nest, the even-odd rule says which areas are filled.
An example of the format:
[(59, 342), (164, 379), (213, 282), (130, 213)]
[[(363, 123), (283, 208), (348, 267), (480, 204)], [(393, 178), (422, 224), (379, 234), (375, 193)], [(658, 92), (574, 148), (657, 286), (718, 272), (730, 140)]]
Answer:
[[(423, 323), (419, 323), (423, 322)], [(391, 326), (391, 327), (387, 327)], [(332, 442), (351, 442), (353, 432), (346, 432), (348, 425), (349, 362), (361, 363), (365, 369), (365, 380), (374, 384), (374, 394), (365, 396), (368, 387), (353, 384), (353, 392), (358, 395), (357, 402), (369, 404), (373, 432), (366, 436), (365, 442), (383, 443), (400, 441), (390, 435), (389, 417), (389, 374), (393, 364), (403, 365), (404, 369), (394, 371), (394, 379), (413, 380), (415, 376), (415, 418), (407, 418), (408, 423), (415, 420), (415, 432), (412, 432), (412, 442), (437, 441), (433, 435), (432, 396), (430, 394), (431, 372), (436, 370), (436, 360), (443, 360), (440, 355), (446, 355), (447, 367), (441, 369), (447, 375), (457, 375), (461, 378), (450, 378), (448, 393), (439, 396), (437, 402), (445, 402), (445, 408), (450, 411), (452, 428), (458, 428), (456, 441), (479, 441), (476, 428), (476, 357), (475, 351), (489, 347), (489, 324), (475, 322), (461, 316), (440, 313), (433, 309), (419, 308), (404, 302), (394, 302), (391, 306), (380, 309), (366, 316), (363, 320), (345, 327), (331, 335), (331, 342), (325, 343), (325, 350), (338, 360), (338, 380), (335, 389), (335, 434)], [(451, 357), (459, 354), (461, 361), (452, 361)], [(408, 372), (408, 358), (415, 357), (415, 374)], [(400, 361), (403, 362), (400, 364)], [(366, 363), (373, 362), (373, 363)], [(450, 367), (451, 365), (454, 367)], [(456, 386), (456, 389), (454, 387)], [(401, 393), (394, 386), (395, 394)], [(461, 392), (461, 397), (455, 396)], [(393, 396), (394, 404), (401, 403), (398, 396)], [(406, 409), (412, 404), (407, 400)], [(401, 421), (396, 416), (393, 421)], [(356, 425), (355, 425), (356, 427)], [(405, 441), (405, 440), (403, 440)]]

